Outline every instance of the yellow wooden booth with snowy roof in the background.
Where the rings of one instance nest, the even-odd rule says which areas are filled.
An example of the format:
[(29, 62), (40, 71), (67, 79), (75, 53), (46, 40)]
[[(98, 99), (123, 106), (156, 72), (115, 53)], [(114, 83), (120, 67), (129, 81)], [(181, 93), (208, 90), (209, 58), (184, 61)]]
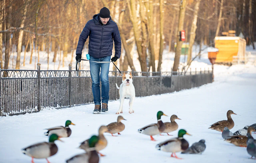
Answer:
[(244, 60), (246, 41), (240, 37), (217, 36), (215, 48), (219, 50), (215, 63), (229, 64), (233, 62), (233, 58)]

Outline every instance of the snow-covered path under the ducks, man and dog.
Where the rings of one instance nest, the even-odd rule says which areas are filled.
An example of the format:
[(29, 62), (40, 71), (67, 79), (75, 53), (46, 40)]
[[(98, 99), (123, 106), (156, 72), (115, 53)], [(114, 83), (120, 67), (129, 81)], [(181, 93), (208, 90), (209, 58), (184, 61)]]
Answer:
[[(220, 69), (224, 69), (221, 73)], [(210, 124), (226, 119), (226, 112), (231, 109), (235, 127), (231, 131), (256, 123), (256, 68), (253, 66), (216, 66), (215, 82), (191, 90), (183, 90), (171, 94), (136, 98), (134, 114), (128, 113), (128, 100), (124, 103), (123, 123), (126, 129), (121, 136), (112, 137), (105, 134), (108, 146), (102, 151), (106, 157), (100, 163), (137, 163), (137, 162), (254, 162), (244, 147), (236, 147), (222, 140), (221, 133), (208, 129)], [(71, 120), (72, 134), (57, 141), (57, 154), (49, 158), (52, 163), (64, 163), (74, 154), (83, 152), (78, 149), (79, 143), (92, 134), (97, 134), (100, 125), (116, 121), (115, 112), (119, 101), (109, 103), (108, 114), (92, 114), (94, 105), (78, 106), (65, 109), (43, 110), (39, 113), (12, 117), (0, 117), (0, 162), (30, 163), (31, 158), (21, 153), (21, 148), (35, 142), (48, 141), (44, 136), (44, 128), (64, 125)], [(185, 155), (177, 153), (178, 160), (170, 158), (171, 153), (158, 151), (155, 145), (174, 136), (154, 136), (158, 141), (150, 141), (150, 137), (139, 134), (137, 130), (147, 124), (156, 123), (156, 112), (163, 111), (168, 116), (176, 114), (182, 120), (176, 120), (179, 129), (183, 128), (192, 134), (185, 136), (190, 145), (200, 139), (206, 140), (206, 151), (202, 155)], [(162, 117), (163, 122), (170, 117)], [(256, 135), (254, 135), (256, 137)], [(36, 163), (46, 163), (45, 159), (35, 159)]]

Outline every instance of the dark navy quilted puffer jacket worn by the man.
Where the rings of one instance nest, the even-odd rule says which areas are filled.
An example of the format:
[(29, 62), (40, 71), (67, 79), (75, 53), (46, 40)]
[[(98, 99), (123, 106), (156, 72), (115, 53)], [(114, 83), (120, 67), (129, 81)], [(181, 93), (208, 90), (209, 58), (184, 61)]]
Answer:
[(113, 40), (115, 45), (115, 56), (121, 55), (121, 38), (117, 24), (111, 20), (106, 25), (100, 21), (99, 14), (89, 20), (80, 34), (76, 54), (82, 54), (86, 39), (89, 37), (88, 54), (94, 58), (102, 58), (112, 55)]

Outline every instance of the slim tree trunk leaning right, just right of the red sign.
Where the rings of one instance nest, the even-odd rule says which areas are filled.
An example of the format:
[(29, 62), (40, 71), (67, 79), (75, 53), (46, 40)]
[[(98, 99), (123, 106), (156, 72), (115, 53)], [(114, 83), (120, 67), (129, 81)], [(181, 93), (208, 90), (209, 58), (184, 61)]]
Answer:
[(188, 58), (187, 63), (190, 64), (191, 57), (192, 57), (192, 47), (194, 45), (194, 39), (196, 38), (196, 29), (197, 29), (197, 17), (198, 17), (198, 10), (200, 6), (201, 0), (196, 0), (196, 5), (194, 7), (194, 15), (193, 15), (193, 22), (190, 29), (190, 40), (189, 40), (189, 46), (188, 46)]

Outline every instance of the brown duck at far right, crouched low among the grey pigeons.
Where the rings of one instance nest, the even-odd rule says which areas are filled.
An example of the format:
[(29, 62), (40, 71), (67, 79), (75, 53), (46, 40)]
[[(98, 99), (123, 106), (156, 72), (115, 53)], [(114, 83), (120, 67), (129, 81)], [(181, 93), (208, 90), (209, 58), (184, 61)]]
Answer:
[[(251, 135), (252, 131), (255, 131), (255, 129), (253, 127), (249, 127), (247, 130), (247, 133)], [(244, 135), (234, 135), (234, 136), (231, 136), (231, 138), (227, 139), (226, 141), (240, 147), (247, 146), (246, 145), (247, 137)]]

